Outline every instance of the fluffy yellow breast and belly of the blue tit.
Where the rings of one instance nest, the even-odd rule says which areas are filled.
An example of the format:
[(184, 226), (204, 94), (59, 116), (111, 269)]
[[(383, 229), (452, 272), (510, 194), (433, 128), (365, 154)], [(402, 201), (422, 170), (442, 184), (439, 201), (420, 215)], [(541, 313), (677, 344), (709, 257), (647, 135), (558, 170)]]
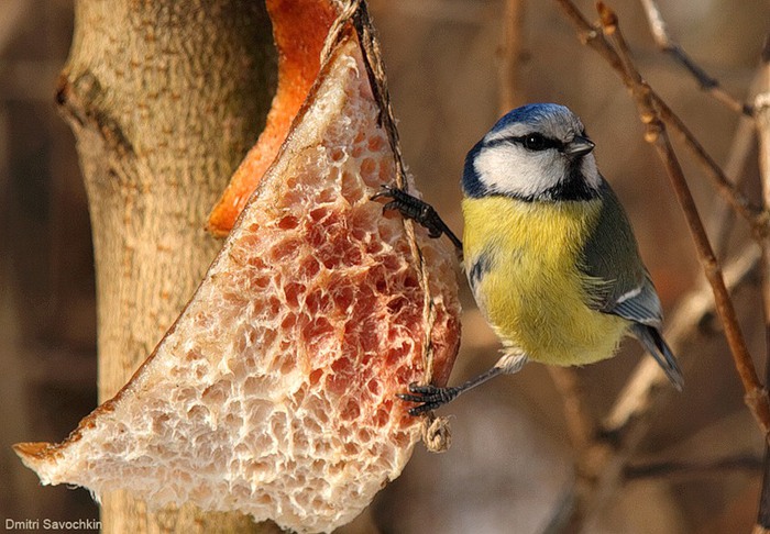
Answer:
[(504, 345), (530, 359), (582, 365), (615, 353), (628, 322), (587, 305), (579, 268), (601, 201), (463, 200), (465, 269)]

